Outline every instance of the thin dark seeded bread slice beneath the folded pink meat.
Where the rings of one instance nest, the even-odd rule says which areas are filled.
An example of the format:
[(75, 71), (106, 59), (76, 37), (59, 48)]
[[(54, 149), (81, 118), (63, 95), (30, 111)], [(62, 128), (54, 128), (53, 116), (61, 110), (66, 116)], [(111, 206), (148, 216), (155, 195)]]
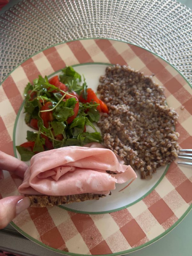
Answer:
[(100, 197), (104, 197), (106, 195), (100, 194), (77, 194), (70, 196), (40, 196), (40, 195), (25, 195), (28, 196), (31, 200), (30, 207), (45, 207), (45, 206), (53, 206), (60, 204), (70, 204), (74, 202), (83, 202), (86, 200), (98, 200)]

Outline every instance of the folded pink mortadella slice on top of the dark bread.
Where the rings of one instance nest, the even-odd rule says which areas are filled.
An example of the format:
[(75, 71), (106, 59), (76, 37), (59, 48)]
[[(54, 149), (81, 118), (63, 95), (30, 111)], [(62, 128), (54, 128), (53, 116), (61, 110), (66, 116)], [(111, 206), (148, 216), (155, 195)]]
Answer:
[(69, 146), (33, 156), (19, 192), (50, 196), (107, 195), (115, 189), (116, 183), (132, 181), (136, 177), (131, 166), (120, 164), (110, 149)]

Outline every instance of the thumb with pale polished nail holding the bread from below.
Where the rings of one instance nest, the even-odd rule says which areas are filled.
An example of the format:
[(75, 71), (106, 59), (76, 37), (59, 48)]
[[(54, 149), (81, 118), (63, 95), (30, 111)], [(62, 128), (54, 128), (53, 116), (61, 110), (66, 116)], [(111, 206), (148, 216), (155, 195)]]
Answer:
[(30, 206), (30, 199), (24, 196), (8, 196), (0, 200), (0, 229), (5, 228), (20, 212)]

